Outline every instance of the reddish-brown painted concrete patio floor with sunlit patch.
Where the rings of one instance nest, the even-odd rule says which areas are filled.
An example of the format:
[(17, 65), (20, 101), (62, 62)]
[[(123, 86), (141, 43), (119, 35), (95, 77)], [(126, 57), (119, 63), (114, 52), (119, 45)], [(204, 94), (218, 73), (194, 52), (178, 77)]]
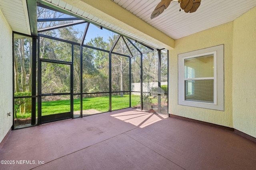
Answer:
[(128, 108), (11, 131), (0, 160), (13, 163), (0, 170), (255, 170), (256, 143)]

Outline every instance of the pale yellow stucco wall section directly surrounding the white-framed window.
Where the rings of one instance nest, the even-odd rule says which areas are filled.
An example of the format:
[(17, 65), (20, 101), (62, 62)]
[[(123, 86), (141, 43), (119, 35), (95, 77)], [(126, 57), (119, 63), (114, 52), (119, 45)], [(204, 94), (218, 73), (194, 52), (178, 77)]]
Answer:
[[(200, 121), (233, 127), (232, 117), (232, 39), (229, 22), (175, 40), (169, 51), (169, 113)], [(178, 105), (178, 54), (224, 44), (224, 111)]]

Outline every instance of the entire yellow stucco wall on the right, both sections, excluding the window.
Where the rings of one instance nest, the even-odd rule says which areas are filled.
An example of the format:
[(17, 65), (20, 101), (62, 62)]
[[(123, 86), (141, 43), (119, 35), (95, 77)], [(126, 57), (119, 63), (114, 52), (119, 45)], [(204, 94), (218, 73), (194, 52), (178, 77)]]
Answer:
[[(169, 49), (169, 113), (256, 137), (256, 7), (230, 23), (175, 40)], [(178, 105), (178, 54), (224, 44), (224, 111)]]

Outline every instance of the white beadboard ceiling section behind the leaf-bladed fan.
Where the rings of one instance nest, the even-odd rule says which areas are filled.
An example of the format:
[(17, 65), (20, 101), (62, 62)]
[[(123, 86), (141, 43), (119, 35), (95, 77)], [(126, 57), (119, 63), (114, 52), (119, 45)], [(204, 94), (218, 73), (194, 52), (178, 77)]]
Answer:
[(202, 0), (196, 12), (185, 13), (179, 11), (177, 1), (172, 1), (162, 14), (151, 20), (151, 13), (161, 0), (113, 1), (173, 39), (234, 21), (256, 6), (256, 0)]

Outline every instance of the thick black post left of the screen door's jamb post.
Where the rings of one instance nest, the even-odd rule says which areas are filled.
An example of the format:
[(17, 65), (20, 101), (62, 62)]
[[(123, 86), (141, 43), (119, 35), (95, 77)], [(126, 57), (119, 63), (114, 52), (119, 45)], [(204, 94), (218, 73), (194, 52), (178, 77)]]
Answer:
[(36, 41), (37, 39), (32, 37), (31, 125), (36, 125)]

